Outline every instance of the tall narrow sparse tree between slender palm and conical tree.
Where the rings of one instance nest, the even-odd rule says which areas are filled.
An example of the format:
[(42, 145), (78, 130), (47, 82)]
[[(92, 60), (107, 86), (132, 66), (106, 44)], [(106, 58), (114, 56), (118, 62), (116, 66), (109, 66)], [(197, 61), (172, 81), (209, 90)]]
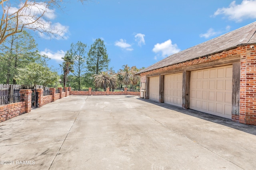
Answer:
[(84, 73), (86, 68), (86, 47), (86, 44), (78, 41), (76, 44), (72, 43), (69, 50), (70, 55), (74, 59), (73, 75), (76, 77), (75, 82), (78, 84), (79, 90), (81, 89), (82, 73)]

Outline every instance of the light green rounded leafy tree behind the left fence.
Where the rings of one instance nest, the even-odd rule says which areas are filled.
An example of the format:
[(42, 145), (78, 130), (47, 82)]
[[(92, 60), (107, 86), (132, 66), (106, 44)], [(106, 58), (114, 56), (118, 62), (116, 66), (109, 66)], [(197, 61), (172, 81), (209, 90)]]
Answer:
[(38, 63), (30, 63), (24, 68), (19, 68), (14, 79), (19, 84), (36, 87), (36, 85), (43, 85), (57, 83), (59, 76), (57, 72), (53, 72), (49, 67)]

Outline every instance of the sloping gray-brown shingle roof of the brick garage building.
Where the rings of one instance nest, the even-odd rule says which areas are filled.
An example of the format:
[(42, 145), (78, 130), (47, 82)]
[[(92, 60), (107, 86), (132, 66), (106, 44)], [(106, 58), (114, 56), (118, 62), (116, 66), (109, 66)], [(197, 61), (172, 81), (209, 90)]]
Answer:
[(224, 51), (225, 49), (230, 49), (232, 47), (236, 47), (238, 45), (256, 43), (256, 22), (244, 26), (242, 28), (238, 28), (232, 32), (228, 32), (222, 36), (216, 37), (207, 42), (200, 43), (194, 47), (190, 47), (153, 65), (150, 65), (146, 69), (138, 72), (144, 73), (147, 71), (151, 71), (154, 69), (159, 69), (162, 67), (167, 67), (169, 65), (174, 65), (177, 63), (182, 63), (184, 61), (189, 61), (192, 59), (196, 59), (199, 57), (207, 56), (213, 53)]

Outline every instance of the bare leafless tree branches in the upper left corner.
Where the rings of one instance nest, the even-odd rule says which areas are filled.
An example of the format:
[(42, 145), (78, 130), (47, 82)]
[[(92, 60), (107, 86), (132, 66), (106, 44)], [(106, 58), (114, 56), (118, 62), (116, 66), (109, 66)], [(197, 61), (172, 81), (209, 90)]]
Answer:
[[(65, 0), (0, 0), (0, 44), (7, 37), (24, 29), (38, 31), (40, 34), (62, 36), (66, 28), (49, 22), (54, 8), (61, 8)], [(66, 0), (68, 1), (68, 0)], [(77, 0), (85, 2), (87, 0)]]

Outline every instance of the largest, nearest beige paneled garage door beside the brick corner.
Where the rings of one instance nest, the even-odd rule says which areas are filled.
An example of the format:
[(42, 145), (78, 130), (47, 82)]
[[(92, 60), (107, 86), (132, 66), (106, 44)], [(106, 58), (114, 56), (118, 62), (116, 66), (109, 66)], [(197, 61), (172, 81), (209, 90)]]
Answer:
[(232, 65), (191, 71), (190, 109), (231, 119)]

